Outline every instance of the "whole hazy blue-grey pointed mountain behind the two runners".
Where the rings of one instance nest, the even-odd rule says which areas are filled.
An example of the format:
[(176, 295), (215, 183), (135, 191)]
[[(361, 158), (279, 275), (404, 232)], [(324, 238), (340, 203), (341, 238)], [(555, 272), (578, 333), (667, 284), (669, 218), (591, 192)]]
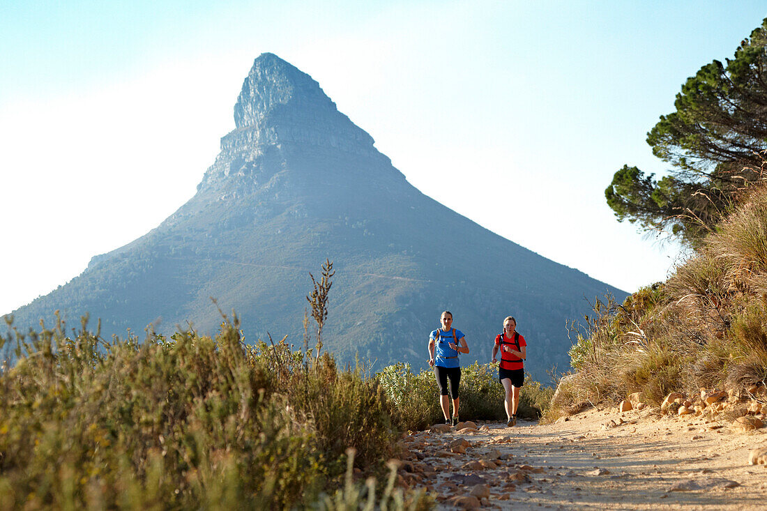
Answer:
[(565, 321), (588, 312), (585, 298), (626, 295), (420, 193), (316, 81), (274, 54), (255, 59), (234, 118), (189, 202), (13, 312), (15, 326), (50, 322), (58, 309), (70, 326), (100, 318), (105, 338), (150, 323), (211, 332), (220, 308), (239, 315), (249, 342), (288, 335), (298, 348), (309, 272), (327, 258), (336, 275), (323, 340), (341, 361), (424, 368), (447, 309), (471, 348), (462, 364), (489, 361), (514, 315), (526, 368), (545, 378), (552, 365), (568, 368)]

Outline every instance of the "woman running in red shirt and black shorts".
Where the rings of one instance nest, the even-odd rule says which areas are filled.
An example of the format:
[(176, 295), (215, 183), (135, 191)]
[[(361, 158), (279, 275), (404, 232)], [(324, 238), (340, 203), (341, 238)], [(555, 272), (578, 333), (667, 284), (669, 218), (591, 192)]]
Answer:
[(519, 406), (519, 389), (525, 382), (525, 367), (523, 361), (527, 357), (527, 343), (516, 331), (517, 320), (509, 316), (503, 320), (503, 332), (495, 336), (495, 346), (492, 348), (492, 363), (495, 364), (495, 354), (501, 349), (501, 367), (498, 368), (498, 379), (506, 392), (503, 407), (506, 410), (506, 426), (517, 424), (517, 407)]

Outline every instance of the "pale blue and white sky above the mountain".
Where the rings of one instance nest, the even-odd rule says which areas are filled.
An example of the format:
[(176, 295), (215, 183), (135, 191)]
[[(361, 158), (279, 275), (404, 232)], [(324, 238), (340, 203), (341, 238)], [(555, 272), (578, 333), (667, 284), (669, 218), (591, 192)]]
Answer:
[(604, 189), (624, 163), (667, 169), (647, 131), (765, 16), (721, 0), (2, 0), (0, 314), (193, 196), (265, 51), (426, 195), (626, 291), (663, 280), (679, 247), (617, 223)]

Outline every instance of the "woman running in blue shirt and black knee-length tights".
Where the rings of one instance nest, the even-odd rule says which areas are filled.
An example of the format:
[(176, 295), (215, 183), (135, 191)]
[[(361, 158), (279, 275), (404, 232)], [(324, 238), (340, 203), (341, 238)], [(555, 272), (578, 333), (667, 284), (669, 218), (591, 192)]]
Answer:
[[(459, 353), (469, 353), (463, 332), (452, 328), (453, 313), (445, 311), (439, 319), (441, 328), (429, 335), (429, 365), (434, 368), (436, 384), (439, 387), (439, 406), (445, 416), (445, 424), (458, 424), (458, 385), (461, 382)], [(450, 382), (450, 397), (453, 398), (453, 421), (450, 421), (450, 403), (447, 397), (447, 382)]]

